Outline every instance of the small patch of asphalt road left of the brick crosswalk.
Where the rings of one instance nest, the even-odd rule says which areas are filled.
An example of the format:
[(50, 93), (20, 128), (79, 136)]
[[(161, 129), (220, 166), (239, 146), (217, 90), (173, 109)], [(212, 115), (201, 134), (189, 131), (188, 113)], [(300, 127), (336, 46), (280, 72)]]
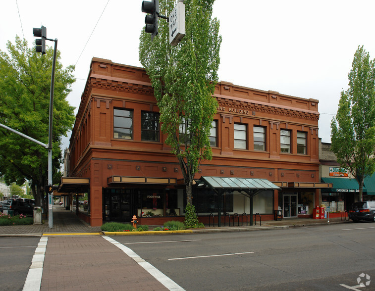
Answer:
[(22, 290), (39, 241), (30, 237), (0, 238), (0, 290)]

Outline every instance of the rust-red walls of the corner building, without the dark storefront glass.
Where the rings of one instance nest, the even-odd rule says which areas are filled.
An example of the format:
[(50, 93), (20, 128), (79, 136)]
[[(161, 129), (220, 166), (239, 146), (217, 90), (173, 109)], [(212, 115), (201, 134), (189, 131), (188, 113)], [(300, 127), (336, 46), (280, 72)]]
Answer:
[[(282, 191), (273, 194), (273, 209), (283, 208), (282, 193), (309, 192), (314, 204), (319, 204), (319, 187), (315, 185), (320, 182), (319, 101), (228, 82), (217, 83), (214, 97), (218, 101), (214, 117), (217, 144), (213, 147), (213, 160), (203, 161), (196, 177), (265, 178), (279, 182), (276, 184), (282, 186)], [(114, 134), (115, 108), (131, 110), (131, 139)], [(142, 141), (142, 112), (159, 112), (145, 70), (93, 58), (70, 139), (68, 169), (71, 177), (90, 178), (90, 213), (85, 219), (92, 226), (103, 223), (103, 189), (179, 188), (182, 174), (177, 159), (163, 143), (165, 136), (160, 132), (159, 141)], [(237, 124), (240, 130), (236, 131)], [(264, 136), (261, 142), (258, 138), (254, 141), (254, 131), (259, 129), (264, 131), (260, 133)], [(281, 130), (289, 137), (281, 139)], [(235, 148), (236, 139), (245, 148)], [(288, 139), (290, 142), (285, 145)], [(264, 150), (255, 149), (254, 144), (264, 146)], [(281, 152), (282, 146), (289, 152)], [(132, 199), (138, 199), (137, 195)], [(305, 213), (298, 216), (301, 214)], [(262, 214), (262, 219), (267, 218), (272, 218), (269, 211)]]

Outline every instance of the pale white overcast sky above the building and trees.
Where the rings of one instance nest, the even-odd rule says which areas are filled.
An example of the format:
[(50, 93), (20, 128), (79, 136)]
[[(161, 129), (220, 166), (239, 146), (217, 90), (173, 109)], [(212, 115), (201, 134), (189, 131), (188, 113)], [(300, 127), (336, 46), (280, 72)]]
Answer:
[[(47, 37), (58, 39), (62, 64), (76, 65), (77, 81), (67, 99), (78, 108), (92, 57), (141, 66), (141, 4), (2, 1), (0, 50), (6, 51), (6, 42), (14, 43), (15, 35), (31, 47), (33, 27), (46, 26)], [(330, 121), (340, 92), (347, 89), (356, 49), (364, 45), (375, 58), (374, 11), (374, 0), (216, 0), (214, 17), (220, 20), (222, 36), (219, 81), (318, 99), (319, 137), (329, 143)]]

